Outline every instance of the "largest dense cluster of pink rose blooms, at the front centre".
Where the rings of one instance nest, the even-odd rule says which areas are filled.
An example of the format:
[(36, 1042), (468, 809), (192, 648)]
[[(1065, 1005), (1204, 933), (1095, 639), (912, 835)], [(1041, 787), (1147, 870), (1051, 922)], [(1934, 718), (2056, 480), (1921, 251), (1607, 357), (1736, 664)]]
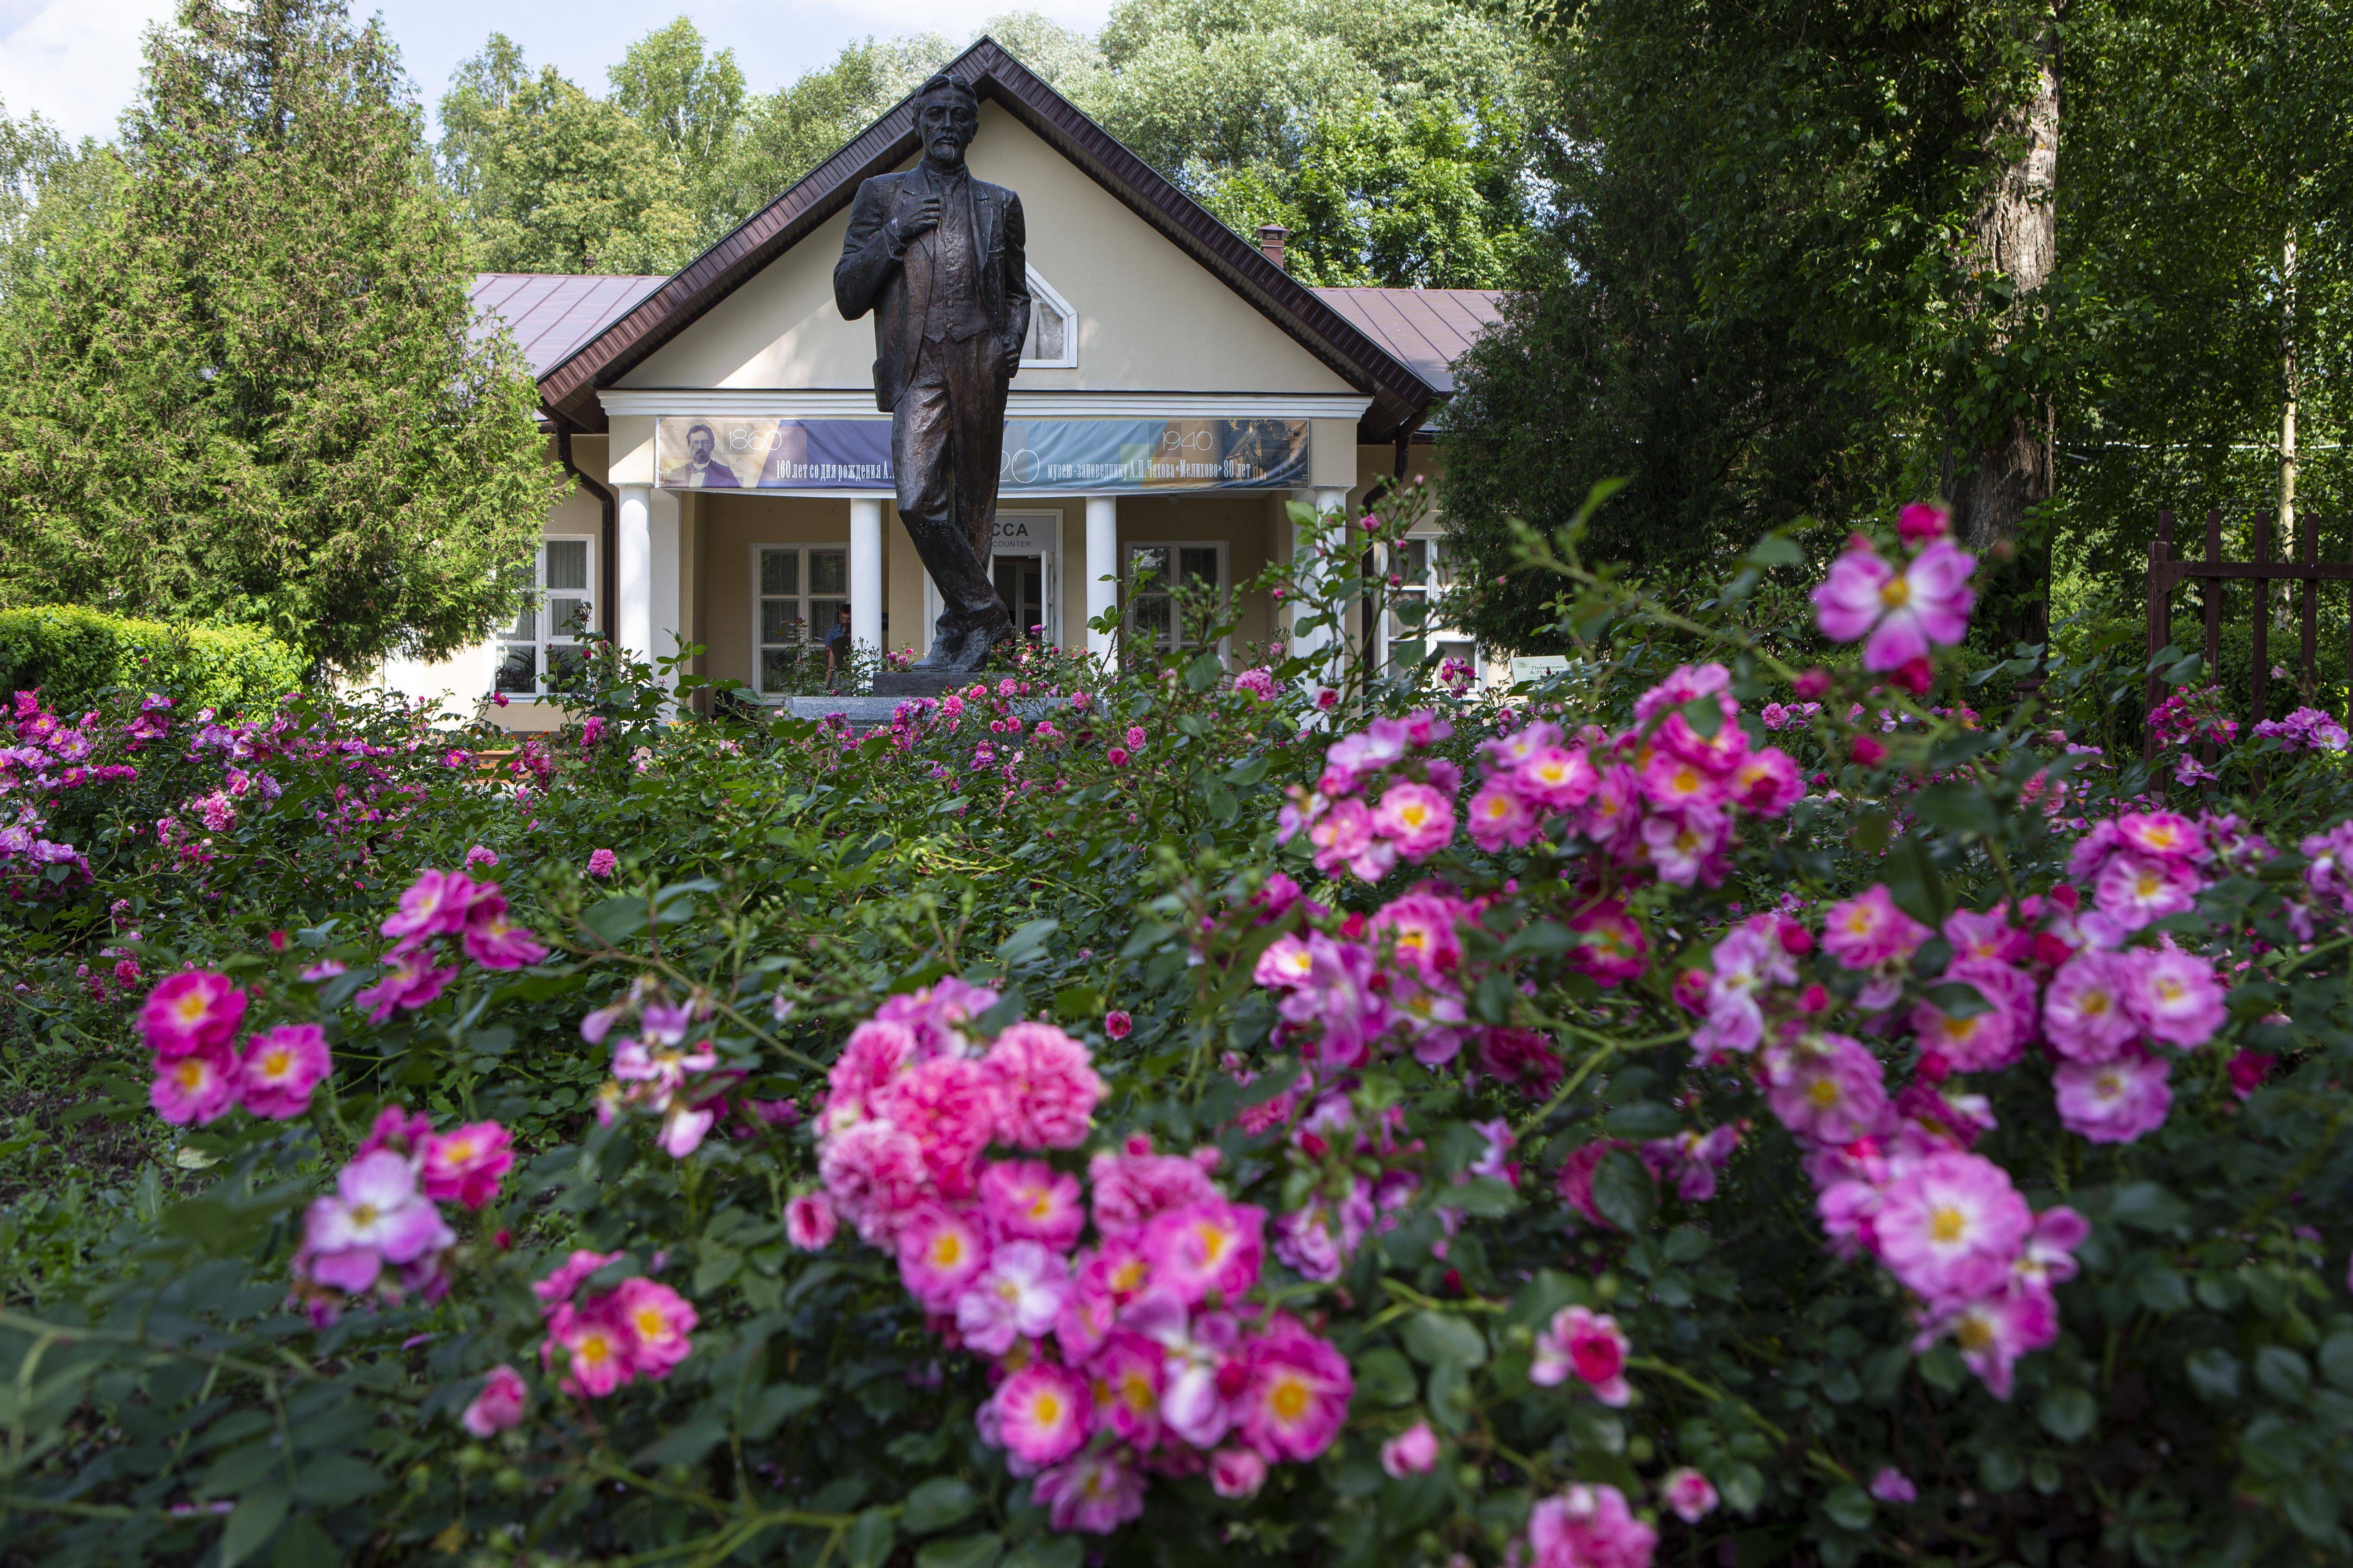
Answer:
[(1266, 1211), (1224, 1197), (1207, 1147), (1129, 1138), (1085, 1178), (1040, 1159), (1087, 1145), (1104, 1081), (1052, 1025), (984, 1037), (998, 1001), (939, 980), (852, 1030), (798, 1232), (824, 1246), (840, 1213), (946, 1345), (991, 1359), (981, 1441), (1056, 1530), (1136, 1519), (1153, 1474), (1207, 1462), (1247, 1495), (1264, 1467), (1320, 1455), (1355, 1385), (1327, 1340), (1257, 1305)]

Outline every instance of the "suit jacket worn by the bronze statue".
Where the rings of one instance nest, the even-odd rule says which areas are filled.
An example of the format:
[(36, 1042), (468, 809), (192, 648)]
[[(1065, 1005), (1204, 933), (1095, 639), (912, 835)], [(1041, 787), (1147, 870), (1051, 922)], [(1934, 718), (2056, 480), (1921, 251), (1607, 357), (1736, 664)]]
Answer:
[[(925, 165), (915, 165), (906, 174), (875, 174), (859, 186), (842, 259), (833, 268), (833, 303), (842, 308), (842, 320), (875, 313), (875, 407), (885, 414), (899, 409), (899, 395), (915, 374), (939, 256), (936, 228), (918, 235), (906, 256), (892, 256), (887, 226), (901, 186), (922, 193), (929, 188), (927, 179)], [(1005, 186), (969, 174), (965, 179), (972, 181), (972, 254), (979, 263), (981, 313), (1000, 343), (1019, 346), (1028, 336), (1031, 310), (1021, 197)], [(946, 223), (948, 214), (939, 221)]]

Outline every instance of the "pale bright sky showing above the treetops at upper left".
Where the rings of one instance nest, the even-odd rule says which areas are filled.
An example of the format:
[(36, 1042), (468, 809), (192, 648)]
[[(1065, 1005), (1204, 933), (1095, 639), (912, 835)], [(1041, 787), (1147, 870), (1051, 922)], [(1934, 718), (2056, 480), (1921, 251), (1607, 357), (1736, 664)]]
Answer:
[[(367, 0), (353, 9), (367, 14)], [(633, 38), (687, 14), (713, 45), (734, 47), (755, 92), (791, 82), (868, 33), (936, 31), (967, 38), (988, 16), (1035, 9), (1066, 26), (1096, 28), (1108, 0), (694, 0), (689, 5), (619, 5), (616, 0), (384, 0), (386, 26), (400, 42), (426, 103), (449, 71), (492, 33), (522, 45), (525, 56), (555, 63), (581, 87), (602, 92), (605, 66)], [(172, 0), (0, 0), (0, 106), (40, 110), (71, 136), (108, 136), (139, 89), (139, 35), (172, 14)]]

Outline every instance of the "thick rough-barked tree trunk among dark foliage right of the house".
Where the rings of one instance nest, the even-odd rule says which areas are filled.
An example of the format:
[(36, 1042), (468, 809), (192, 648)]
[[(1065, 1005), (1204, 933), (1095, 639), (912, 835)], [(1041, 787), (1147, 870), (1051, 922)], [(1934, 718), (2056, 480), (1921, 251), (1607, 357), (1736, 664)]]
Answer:
[[(1969, 221), (1967, 263), (1974, 273), (1998, 273), (2009, 282), (2002, 306), (2007, 324), (2026, 320), (2035, 292), (2049, 280), (2059, 256), (2059, 5), (2040, 7), (2031, 24), (2035, 68), (2028, 92), (1998, 113), (1986, 127), (1988, 150), (2002, 158), (1984, 202)], [(2002, 334), (2007, 339), (2007, 331)], [(1995, 339), (2002, 341), (2002, 339)], [(1986, 442), (1972, 433), (1958, 442), (1946, 463), (1944, 496), (1953, 508), (1953, 531), (1979, 555), (2007, 562), (2017, 548), (2026, 508), (2047, 501), (2054, 487), (2054, 409), (2049, 393), (2038, 393), (2031, 409), (2012, 414)], [(2002, 635), (2040, 642), (2047, 609), (2024, 602), (2021, 590), (2042, 585), (2042, 571), (2002, 574), (2009, 578), (2002, 599), (2014, 607), (2000, 614)], [(2033, 597), (2033, 595), (2026, 595)]]

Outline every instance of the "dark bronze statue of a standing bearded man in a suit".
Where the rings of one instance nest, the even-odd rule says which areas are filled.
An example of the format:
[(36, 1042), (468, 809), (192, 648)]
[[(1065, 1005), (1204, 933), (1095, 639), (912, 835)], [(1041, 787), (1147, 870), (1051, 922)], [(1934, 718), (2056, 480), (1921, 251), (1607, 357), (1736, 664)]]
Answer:
[(981, 103), (953, 75), (915, 94), (922, 162), (875, 174), (849, 209), (833, 299), (875, 313), (875, 407), (887, 411), (899, 522), (946, 611), (922, 670), (976, 670), (1012, 635), (988, 583), (1005, 449), (1005, 383), (1028, 336), (1021, 197), (972, 179)]

